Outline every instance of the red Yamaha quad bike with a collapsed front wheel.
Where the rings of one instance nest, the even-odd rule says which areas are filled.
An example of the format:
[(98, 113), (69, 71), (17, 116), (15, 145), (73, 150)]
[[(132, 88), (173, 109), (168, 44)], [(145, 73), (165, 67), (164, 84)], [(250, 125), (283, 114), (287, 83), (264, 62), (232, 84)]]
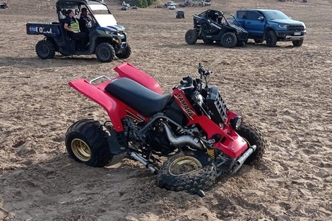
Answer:
[(117, 78), (69, 82), (110, 119), (81, 119), (69, 127), (66, 150), (77, 162), (104, 167), (113, 155), (126, 153), (157, 174), (161, 188), (205, 196), (216, 177), (261, 160), (262, 134), (227, 108), (218, 87), (208, 85), (211, 71), (201, 64), (200, 78), (184, 77), (172, 94), (162, 94), (157, 81), (129, 63), (114, 71)]

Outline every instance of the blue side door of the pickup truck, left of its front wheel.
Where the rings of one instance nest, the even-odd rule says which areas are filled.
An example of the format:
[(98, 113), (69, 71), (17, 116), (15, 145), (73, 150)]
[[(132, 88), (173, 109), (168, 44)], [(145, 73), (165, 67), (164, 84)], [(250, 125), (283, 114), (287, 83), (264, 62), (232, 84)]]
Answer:
[(265, 19), (256, 11), (247, 11), (244, 29), (249, 32), (249, 38), (263, 38)]

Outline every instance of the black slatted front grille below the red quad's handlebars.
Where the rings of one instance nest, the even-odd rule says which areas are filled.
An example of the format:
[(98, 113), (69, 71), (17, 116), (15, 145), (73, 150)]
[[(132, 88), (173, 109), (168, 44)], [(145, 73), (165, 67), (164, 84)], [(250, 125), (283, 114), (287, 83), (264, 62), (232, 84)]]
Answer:
[(227, 120), (227, 106), (223, 101), (223, 97), (221, 97), (218, 92), (217, 87), (213, 86), (209, 88), (208, 96), (206, 97), (206, 104), (208, 105), (213, 122), (217, 124), (225, 124), (225, 121)]

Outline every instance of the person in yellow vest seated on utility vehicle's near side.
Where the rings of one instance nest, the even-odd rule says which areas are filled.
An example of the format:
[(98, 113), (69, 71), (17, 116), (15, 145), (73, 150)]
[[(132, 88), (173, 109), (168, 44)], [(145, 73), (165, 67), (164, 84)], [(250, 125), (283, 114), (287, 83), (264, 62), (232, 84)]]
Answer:
[(74, 18), (75, 13), (73, 10), (69, 9), (67, 15), (66, 21), (64, 22), (64, 29), (67, 30), (70, 38), (80, 40), (81, 48), (79, 50), (83, 51), (85, 44), (88, 42), (88, 34), (80, 31), (80, 26), (78, 20)]

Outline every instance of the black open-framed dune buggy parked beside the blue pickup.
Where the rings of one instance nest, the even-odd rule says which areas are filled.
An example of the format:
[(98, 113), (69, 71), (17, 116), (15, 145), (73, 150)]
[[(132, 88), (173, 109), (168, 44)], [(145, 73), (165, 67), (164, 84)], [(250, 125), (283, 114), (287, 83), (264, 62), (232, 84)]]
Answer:
[(248, 32), (231, 13), (209, 9), (194, 15), (194, 29), (186, 32), (185, 39), (188, 44), (203, 40), (205, 44), (220, 42), (223, 47), (235, 47), (247, 42)]

